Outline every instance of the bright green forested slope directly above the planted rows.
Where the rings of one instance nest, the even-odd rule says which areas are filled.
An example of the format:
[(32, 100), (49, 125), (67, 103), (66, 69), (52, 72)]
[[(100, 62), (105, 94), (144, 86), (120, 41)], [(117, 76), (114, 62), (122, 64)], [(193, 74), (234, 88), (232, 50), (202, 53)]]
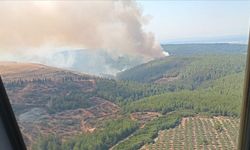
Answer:
[(146, 97), (124, 106), (126, 111), (168, 113), (190, 109), (211, 115), (239, 116), (243, 90), (243, 73), (206, 82), (197, 90), (183, 90)]

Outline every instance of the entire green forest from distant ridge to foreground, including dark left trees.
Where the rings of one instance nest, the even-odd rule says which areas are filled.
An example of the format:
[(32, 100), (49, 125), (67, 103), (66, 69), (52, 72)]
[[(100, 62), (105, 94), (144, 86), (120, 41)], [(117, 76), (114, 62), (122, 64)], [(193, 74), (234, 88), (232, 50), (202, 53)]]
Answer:
[[(41, 134), (32, 149), (136, 150), (145, 145), (153, 146), (159, 131), (179, 126), (184, 117), (239, 118), (245, 47), (222, 44), (216, 51), (214, 45), (208, 45), (206, 49), (213, 51), (205, 53), (195, 45), (193, 51), (183, 53), (183, 45), (167, 47), (171, 46), (174, 56), (125, 70), (114, 79), (74, 75), (56, 80), (53, 77), (6, 83), (6, 88), (12, 91), (33, 87), (31, 93), (24, 95), (26, 102), (43, 107), (54, 117), (79, 109), (93, 113), (102, 106), (102, 103), (99, 106), (101, 100), (117, 108), (111, 117), (89, 121), (90, 125), (95, 125), (93, 132), (79, 132), (67, 138)], [(226, 52), (228, 47), (230, 50)], [(187, 51), (189, 48), (186, 46)], [(34, 98), (37, 98), (35, 102)], [(27, 108), (14, 105), (14, 109), (21, 114)]]

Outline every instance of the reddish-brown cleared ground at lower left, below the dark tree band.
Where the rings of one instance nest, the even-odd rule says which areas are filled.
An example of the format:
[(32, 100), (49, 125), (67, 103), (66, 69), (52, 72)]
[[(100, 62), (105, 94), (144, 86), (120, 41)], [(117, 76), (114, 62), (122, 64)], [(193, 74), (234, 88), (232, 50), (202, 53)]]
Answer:
[(53, 115), (44, 112), (37, 121), (19, 120), (22, 133), (29, 142), (33, 142), (39, 134), (53, 134), (67, 139), (81, 133), (91, 133), (99, 122), (117, 117), (117, 105), (99, 97), (92, 100), (95, 105), (87, 109), (67, 110)]

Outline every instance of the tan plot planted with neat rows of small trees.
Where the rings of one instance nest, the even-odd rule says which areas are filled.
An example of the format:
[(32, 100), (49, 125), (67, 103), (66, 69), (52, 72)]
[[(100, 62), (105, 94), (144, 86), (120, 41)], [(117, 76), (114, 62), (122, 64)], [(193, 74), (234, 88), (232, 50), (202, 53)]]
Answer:
[(239, 119), (230, 117), (187, 117), (173, 129), (159, 132), (155, 143), (143, 150), (237, 149)]

